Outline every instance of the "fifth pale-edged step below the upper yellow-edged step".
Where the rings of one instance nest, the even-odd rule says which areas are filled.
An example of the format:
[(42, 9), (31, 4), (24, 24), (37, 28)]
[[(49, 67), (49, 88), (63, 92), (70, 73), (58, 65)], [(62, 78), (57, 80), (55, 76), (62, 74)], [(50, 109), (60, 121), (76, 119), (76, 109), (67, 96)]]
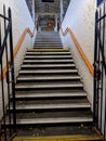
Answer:
[(19, 75), (62, 75), (62, 74), (67, 74), (67, 75), (74, 75), (78, 74), (77, 69), (38, 69), (38, 70), (19, 70)]

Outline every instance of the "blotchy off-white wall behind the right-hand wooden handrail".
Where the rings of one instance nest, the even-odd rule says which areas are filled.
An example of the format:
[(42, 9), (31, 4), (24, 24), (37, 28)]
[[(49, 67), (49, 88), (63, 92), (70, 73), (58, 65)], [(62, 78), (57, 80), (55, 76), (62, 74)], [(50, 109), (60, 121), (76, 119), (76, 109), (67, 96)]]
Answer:
[[(62, 24), (64, 30), (66, 27), (70, 27), (74, 31), (91, 65), (93, 64), (94, 55), (95, 2), (96, 0), (71, 0)], [(79, 74), (82, 77), (84, 89), (88, 92), (89, 101), (93, 107), (93, 77), (89, 73), (69, 34), (65, 37), (61, 35), (61, 37), (63, 44), (70, 48)]]

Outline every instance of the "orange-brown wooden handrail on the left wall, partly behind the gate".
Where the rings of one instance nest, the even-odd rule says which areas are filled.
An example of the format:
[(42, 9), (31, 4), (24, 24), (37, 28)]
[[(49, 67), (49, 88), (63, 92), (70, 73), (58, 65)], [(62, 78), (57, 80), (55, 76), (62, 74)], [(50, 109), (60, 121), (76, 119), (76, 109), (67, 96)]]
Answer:
[[(13, 51), (13, 56), (14, 57), (16, 56), (16, 54), (17, 54), (17, 52), (18, 52), (18, 50), (19, 50), (19, 48), (21, 48), (21, 46), (22, 46), (22, 43), (23, 43), (23, 41), (24, 41), (24, 39), (26, 37), (26, 35), (28, 34), (32, 38), (34, 35), (35, 35), (36, 28), (37, 28), (37, 21), (36, 21), (36, 24), (35, 24), (35, 27), (34, 27), (32, 31), (28, 27), (23, 31), (22, 36), (18, 39), (17, 44), (15, 46), (14, 51)], [(2, 75), (0, 75), (0, 80), (4, 79), (4, 77), (6, 75), (6, 72), (8, 72), (8, 67), (9, 66), (4, 66), (3, 70), (2, 70)]]

